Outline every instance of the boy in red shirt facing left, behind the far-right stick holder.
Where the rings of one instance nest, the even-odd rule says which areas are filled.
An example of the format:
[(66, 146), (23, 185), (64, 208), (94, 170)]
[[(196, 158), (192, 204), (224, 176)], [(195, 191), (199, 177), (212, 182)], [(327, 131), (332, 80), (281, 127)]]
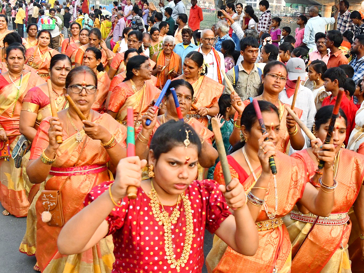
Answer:
[[(339, 88), (344, 87), (345, 81), (347, 79), (345, 71), (339, 67), (329, 68), (324, 74), (324, 79), (325, 91), (331, 92), (331, 95), (324, 99), (324, 101), (322, 102), (322, 107), (327, 105), (335, 105), (337, 94), (339, 94)], [(348, 145), (350, 133), (355, 126), (356, 112), (353, 111), (351, 103), (345, 96), (345, 94), (343, 95), (343, 99), (341, 100), (340, 108), (344, 111), (348, 119), (348, 123), (346, 126), (346, 138), (344, 141), (344, 144)]]

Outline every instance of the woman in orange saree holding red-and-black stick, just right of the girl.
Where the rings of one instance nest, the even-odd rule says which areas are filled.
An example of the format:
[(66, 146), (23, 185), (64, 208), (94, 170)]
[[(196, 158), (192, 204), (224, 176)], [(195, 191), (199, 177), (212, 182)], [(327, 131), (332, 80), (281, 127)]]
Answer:
[[(270, 84), (274, 82), (272, 79), (269, 81)], [(322, 145), (322, 149), (329, 150), (314, 149), (318, 159), (325, 161), (320, 180), (323, 186), (317, 191), (313, 185), (306, 183), (305, 164), (276, 148), (280, 138), (278, 109), (266, 101), (258, 101), (258, 104), (268, 133), (262, 135), (254, 106), (250, 103), (241, 118), (241, 132), (245, 141), (240, 147), (234, 147), (236, 151), (227, 157), (232, 177), (240, 180), (248, 195), (248, 206), (259, 234), (258, 250), (254, 256), (244, 256), (226, 248), (215, 238), (206, 258), (209, 272), (291, 272), (291, 244), (282, 217), (293, 209), (298, 200), (312, 213), (323, 217), (329, 215), (333, 207), (333, 191), (337, 186), (332, 172), (335, 146), (322, 145), (320, 139), (311, 142), (312, 146)], [(266, 137), (269, 141), (264, 141)], [(272, 175), (270, 170), (270, 156), (274, 156), (276, 175)], [(219, 184), (225, 183), (220, 162), (216, 166), (214, 179)]]

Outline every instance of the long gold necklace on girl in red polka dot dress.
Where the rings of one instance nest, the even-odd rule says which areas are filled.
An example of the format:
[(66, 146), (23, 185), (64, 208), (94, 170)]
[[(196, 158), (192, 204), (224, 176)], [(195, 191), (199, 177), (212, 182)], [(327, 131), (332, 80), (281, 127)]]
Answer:
[[(158, 225), (164, 226), (164, 241), (165, 241), (165, 251), (167, 256), (167, 262), (170, 264), (171, 268), (177, 269), (177, 272), (184, 267), (187, 263), (188, 257), (190, 256), (191, 244), (193, 240), (193, 218), (192, 218), (192, 209), (191, 202), (188, 197), (182, 193), (178, 195), (177, 206), (173, 209), (171, 216), (169, 216), (168, 212), (164, 209), (161, 200), (158, 197), (157, 191), (155, 191), (153, 186), (153, 181), (151, 182), (152, 189), (150, 190), (150, 206), (153, 211), (153, 216), (155, 220), (158, 222)], [(181, 257), (176, 260), (175, 254), (173, 250), (173, 241), (172, 241), (172, 225), (177, 223), (177, 219), (181, 215), (179, 211), (179, 197), (181, 196), (183, 203), (183, 210), (185, 212), (186, 219), (186, 234), (185, 234), (185, 242), (183, 244), (183, 250)], [(159, 200), (159, 202), (158, 202)], [(160, 209), (160, 205), (162, 206), (162, 211)]]

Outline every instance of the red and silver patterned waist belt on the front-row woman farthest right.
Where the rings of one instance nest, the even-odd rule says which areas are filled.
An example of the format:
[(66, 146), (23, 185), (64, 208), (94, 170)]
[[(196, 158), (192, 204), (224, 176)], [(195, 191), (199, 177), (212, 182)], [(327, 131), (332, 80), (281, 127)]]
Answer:
[[(298, 220), (305, 223), (313, 223), (317, 218), (317, 215), (312, 213), (303, 214), (300, 211), (292, 210), (291, 211), (291, 219)], [(347, 212), (345, 213), (332, 213), (329, 217), (318, 217), (316, 222), (317, 225), (324, 226), (340, 226), (344, 225), (349, 221), (349, 215)]]

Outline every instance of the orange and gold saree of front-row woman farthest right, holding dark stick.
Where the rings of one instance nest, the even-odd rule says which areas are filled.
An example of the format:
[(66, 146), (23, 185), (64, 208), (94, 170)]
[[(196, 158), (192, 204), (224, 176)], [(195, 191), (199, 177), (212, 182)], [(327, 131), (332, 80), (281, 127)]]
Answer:
[[(298, 151), (292, 157), (296, 157), (302, 162), (308, 162), (308, 173), (314, 174), (317, 162), (310, 163), (312, 159), (306, 150)], [(340, 214), (344, 217), (344, 214), (348, 213), (359, 194), (364, 177), (364, 157), (362, 155), (341, 149), (338, 162), (335, 178), (338, 186), (335, 190), (334, 207), (330, 218), (335, 218)], [(339, 270), (341, 273), (351, 272), (347, 254), (351, 221), (343, 223), (343, 221), (335, 220), (328, 225), (325, 221), (321, 223), (322, 221), (319, 220), (298, 250), (312, 226), (312, 223), (306, 220), (307, 217), (304, 217), (302, 221), (296, 221), (298, 218), (301, 219), (299, 212), (291, 214), (291, 220), (287, 222), (292, 253), (295, 255), (292, 261), (292, 272), (336, 273), (340, 272)]]

